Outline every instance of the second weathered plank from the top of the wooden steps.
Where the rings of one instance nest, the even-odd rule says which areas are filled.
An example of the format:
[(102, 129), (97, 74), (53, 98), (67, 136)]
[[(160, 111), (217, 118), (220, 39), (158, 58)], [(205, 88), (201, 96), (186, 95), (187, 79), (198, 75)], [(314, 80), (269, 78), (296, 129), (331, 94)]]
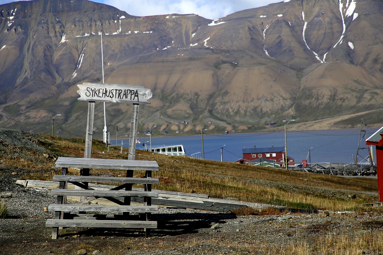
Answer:
[(157, 178), (127, 178), (127, 177), (102, 177), (102, 176), (77, 176), (77, 175), (54, 175), (54, 181), (87, 181), (87, 182), (111, 182), (111, 183), (147, 183), (158, 184)]

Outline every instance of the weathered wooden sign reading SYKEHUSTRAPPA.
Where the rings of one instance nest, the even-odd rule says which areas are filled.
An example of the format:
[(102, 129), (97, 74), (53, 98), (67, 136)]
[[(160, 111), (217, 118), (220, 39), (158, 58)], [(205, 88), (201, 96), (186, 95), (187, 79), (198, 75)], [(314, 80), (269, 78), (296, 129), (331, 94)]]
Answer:
[(78, 84), (80, 101), (150, 104), (152, 91), (139, 85), (84, 82)]

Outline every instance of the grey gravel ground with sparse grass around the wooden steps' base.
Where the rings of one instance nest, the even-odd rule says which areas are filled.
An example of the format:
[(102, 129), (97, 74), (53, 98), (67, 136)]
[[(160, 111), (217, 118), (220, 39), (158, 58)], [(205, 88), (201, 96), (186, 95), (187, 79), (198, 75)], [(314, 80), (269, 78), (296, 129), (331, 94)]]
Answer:
[[(19, 144), (18, 136), (23, 137)], [(43, 154), (44, 149), (36, 147), (34, 139), (37, 137), (28, 132), (0, 130), (1, 155), (23, 154), (23, 147), (36, 155)], [(56, 203), (56, 198), (48, 190), (17, 185), (15, 181), (28, 171), (0, 165), (0, 200), (7, 204), (10, 214), (0, 219), (0, 254), (69, 255), (80, 254), (80, 250), (105, 255), (383, 254), (380, 213), (330, 212), (323, 217), (321, 212), (282, 212), (235, 216), (161, 208), (152, 214), (158, 229), (152, 230), (151, 238), (145, 238), (144, 231), (137, 229), (66, 228), (59, 230), (58, 239), (52, 240), (52, 229), (45, 227), (45, 222), (53, 217), (53, 212), (44, 207)], [(324, 192), (322, 188), (313, 189)], [(346, 191), (329, 192), (347, 195)]]

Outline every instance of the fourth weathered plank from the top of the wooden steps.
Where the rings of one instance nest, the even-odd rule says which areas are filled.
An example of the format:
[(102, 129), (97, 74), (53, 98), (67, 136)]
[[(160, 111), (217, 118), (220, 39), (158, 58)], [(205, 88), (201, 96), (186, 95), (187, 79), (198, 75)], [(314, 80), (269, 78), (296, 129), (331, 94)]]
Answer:
[(157, 212), (158, 206), (128, 206), (100, 204), (50, 204), (49, 211), (89, 211), (89, 212)]

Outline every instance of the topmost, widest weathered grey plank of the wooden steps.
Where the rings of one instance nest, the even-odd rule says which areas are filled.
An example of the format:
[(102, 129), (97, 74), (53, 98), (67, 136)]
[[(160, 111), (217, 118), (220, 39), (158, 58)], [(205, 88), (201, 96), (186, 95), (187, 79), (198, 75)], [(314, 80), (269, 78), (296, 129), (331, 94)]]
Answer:
[(156, 161), (126, 160), (126, 159), (85, 159), (58, 157), (55, 167), (95, 168), (95, 169), (121, 169), (121, 170), (146, 170), (158, 171)]

